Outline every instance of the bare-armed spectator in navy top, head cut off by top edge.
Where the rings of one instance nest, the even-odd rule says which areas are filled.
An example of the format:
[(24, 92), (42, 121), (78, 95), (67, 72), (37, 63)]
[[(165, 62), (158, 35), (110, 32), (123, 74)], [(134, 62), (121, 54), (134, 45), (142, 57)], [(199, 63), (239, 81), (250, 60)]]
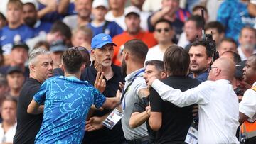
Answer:
[(73, 3), (69, 0), (38, 0), (38, 19), (53, 23), (64, 16), (75, 14)]

